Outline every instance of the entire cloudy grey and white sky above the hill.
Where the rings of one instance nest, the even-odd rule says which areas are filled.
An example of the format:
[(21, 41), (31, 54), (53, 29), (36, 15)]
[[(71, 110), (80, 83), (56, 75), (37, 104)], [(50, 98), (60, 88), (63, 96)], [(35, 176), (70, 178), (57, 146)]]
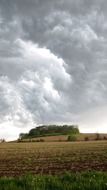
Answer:
[(107, 132), (107, 1), (0, 0), (0, 138)]

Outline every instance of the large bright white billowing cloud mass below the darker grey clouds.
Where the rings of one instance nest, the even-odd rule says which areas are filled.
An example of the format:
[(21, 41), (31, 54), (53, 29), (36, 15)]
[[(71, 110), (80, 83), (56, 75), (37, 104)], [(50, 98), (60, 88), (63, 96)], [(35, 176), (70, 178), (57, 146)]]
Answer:
[[(12, 59), (11, 64), (13, 68), (17, 65), (22, 72), (16, 71), (15, 80), (10, 73), (0, 77), (1, 127), (5, 122), (9, 126), (24, 129), (40, 123), (60, 121), (57, 114), (59, 110), (60, 114), (64, 112), (67, 101), (64, 94), (72, 83), (65, 62), (50, 50), (30, 41), (17, 39), (14, 43), (20, 52), (20, 59)], [(68, 106), (65, 107), (67, 109)]]

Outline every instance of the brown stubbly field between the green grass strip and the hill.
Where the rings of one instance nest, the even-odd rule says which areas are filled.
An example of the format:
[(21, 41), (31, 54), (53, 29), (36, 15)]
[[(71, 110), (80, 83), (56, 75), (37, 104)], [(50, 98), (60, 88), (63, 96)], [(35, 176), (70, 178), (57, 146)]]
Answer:
[(107, 171), (107, 141), (1, 143), (0, 176)]

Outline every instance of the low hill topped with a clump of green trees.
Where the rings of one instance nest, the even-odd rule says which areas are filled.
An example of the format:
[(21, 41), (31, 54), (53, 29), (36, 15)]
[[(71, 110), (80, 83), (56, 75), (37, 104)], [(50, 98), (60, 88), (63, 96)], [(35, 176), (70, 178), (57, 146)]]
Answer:
[(21, 133), (18, 142), (58, 142), (58, 141), (107, 140), (107, 134), (80, 133), (77, 125), (43, 125)]

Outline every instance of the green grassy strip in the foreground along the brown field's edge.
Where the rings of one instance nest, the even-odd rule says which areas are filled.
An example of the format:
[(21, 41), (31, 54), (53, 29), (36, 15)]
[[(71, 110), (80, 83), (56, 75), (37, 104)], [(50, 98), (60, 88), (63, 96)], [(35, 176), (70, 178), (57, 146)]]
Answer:
[(0, 190), (106, 190), (107, 172), (0, 178)]

